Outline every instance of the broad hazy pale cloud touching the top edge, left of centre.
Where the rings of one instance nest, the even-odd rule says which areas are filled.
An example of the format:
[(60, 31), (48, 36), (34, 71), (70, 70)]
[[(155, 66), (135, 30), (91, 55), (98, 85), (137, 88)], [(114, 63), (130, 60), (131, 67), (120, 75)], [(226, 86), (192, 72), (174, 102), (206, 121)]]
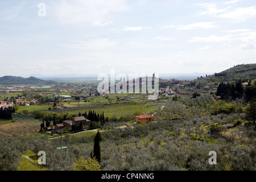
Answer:
[(59, 0), (53, 5), (59, 23), (82, 26), (93, 22), (104, 22), (110, 12), (129, 10), (125, 0)]

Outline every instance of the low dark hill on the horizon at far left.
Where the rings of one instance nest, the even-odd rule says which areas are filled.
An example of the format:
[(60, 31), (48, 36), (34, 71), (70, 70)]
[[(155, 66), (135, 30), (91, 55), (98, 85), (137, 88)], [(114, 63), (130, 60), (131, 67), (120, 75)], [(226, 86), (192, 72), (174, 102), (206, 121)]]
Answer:
[(51, 81), (51, 80), (41, 80), (36, 77), (28, 77), (28, 78), (23, 78), (20, 76), (3, 76), (0, 77), (0, 84), (4, 85), (11, 85), (11, 84), (16, 84), (16, 85), (52, 85), (52, 84), (57, 84), (56, 81)]

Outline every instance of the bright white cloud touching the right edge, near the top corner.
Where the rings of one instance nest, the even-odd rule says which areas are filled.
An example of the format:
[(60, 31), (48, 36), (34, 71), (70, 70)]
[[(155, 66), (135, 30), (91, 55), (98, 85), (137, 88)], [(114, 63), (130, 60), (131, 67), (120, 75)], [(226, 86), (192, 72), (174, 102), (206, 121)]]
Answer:
[(229, 13), (221, 14), (221, 18), (235, 19), (237, 22), (246, 20), (247, 18), (256, 16), (256, 6), (252, 7), (241, 7)]

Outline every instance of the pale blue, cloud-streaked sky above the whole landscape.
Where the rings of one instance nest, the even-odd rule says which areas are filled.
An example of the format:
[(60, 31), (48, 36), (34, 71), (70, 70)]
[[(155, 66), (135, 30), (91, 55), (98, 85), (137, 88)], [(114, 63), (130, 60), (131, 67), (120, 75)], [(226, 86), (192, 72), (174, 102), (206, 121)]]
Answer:
[(256, 1), (0, 1), (0, 76), (215, 73), (256, 63)]

